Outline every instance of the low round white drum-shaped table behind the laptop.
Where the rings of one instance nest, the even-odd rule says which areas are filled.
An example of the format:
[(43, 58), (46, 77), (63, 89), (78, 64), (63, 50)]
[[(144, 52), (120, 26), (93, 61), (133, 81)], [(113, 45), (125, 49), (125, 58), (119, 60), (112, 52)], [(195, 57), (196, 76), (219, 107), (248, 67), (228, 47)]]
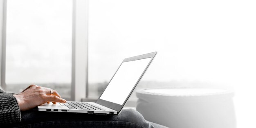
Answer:
[(143, 89), (136, 110), (169, 128), (236, 128), (234, 93), (211, 88)]

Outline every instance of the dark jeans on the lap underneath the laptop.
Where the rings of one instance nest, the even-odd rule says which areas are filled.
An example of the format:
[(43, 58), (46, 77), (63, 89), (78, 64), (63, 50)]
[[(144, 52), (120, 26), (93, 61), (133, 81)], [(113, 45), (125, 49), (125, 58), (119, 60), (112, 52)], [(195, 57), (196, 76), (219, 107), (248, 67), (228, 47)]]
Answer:
[(21, 113), (18, 128), (166, 128), (146, 121), (133, 109), (124, 109), (119, 115), (102, 116), (83, 113), (39, 112), (36, 109)]

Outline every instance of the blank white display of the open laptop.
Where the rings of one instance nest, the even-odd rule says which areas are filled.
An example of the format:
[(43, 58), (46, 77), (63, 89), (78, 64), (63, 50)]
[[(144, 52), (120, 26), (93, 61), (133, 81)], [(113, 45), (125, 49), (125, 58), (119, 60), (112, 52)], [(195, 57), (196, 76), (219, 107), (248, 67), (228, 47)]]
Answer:
[(151, 58), (123, 62), (99, 99), (122, 105)]

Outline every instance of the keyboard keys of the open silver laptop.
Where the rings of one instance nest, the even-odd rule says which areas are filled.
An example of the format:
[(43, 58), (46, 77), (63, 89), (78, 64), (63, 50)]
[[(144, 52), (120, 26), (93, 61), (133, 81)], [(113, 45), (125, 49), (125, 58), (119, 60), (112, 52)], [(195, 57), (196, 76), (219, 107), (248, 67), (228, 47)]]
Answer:
[(99, 106), (95, 106), (87, 102), (66, 102), (63, 104), (70, 109), (105, 110), (103, 108), (100, 108)]

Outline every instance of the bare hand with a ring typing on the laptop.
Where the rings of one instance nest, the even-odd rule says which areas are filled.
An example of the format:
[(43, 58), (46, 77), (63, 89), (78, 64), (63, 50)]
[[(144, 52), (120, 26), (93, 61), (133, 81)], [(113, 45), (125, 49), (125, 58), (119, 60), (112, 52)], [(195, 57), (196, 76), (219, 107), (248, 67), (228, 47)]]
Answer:
[(29, 110), (49, 102), (54, 104), (56, 104), (56, 102), (66, 103), (66, 100), (62, 99), (55, 90), (53, 90), (53, 95), (51, 96), (50, 90), (52, 89), (30, 85), (19, 94), (13, 96), (17, 99), (21, 111)]

